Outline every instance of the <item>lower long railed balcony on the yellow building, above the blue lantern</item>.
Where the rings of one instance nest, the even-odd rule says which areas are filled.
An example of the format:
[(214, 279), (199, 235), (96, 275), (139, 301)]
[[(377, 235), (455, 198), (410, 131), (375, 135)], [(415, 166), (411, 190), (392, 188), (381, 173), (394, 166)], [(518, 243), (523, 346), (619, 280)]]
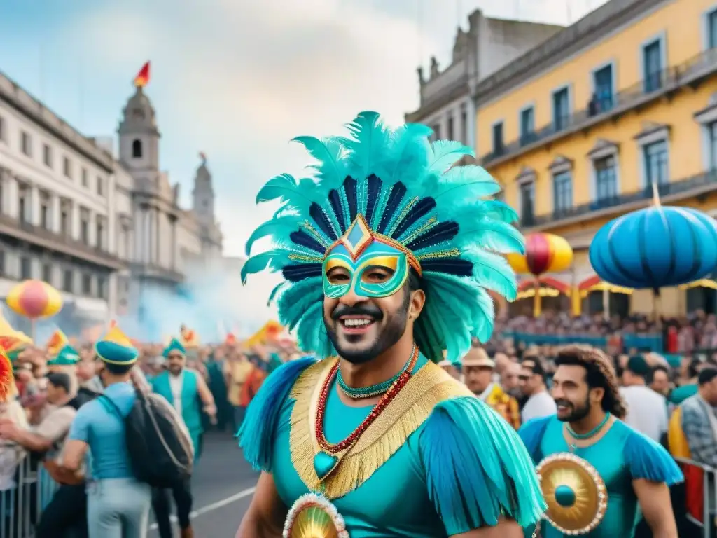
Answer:
[[(717, 190), (717, 170), (705, 171), (696, 176), (678, 181), (660, 184), (657, 192), (660, 202), (670, 204), (690, 197), (699, 197)], [(646, 207), (652, 202), (652, 186), (635, 192), (626, 192), (615, 197), (602, 198), (580, 204), (569, 209), (559, 209), (546, 214), (527, 215), (521, 217), (521, 230), (537, 232), (556, 226), (566, 226), (574, 222), (584, 222), (586, 217), (607, 217), (612, 214), (624, 214), (635, 209)]]

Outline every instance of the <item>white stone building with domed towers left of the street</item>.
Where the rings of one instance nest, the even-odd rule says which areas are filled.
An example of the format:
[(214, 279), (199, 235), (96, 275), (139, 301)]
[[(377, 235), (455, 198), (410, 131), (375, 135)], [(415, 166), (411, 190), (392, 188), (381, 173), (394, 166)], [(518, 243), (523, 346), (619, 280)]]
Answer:
[(206, 159), (181, 209), (159, 138), (142, 88), (115, 156), (111, 139), (83, 136), (0, 74), (0, 300), (20, 280), (45, 280), (65, 300), (53, 321), (76, 333), (136, 314), (147, 285), (175, 293), (189, 263), (222, 255)]

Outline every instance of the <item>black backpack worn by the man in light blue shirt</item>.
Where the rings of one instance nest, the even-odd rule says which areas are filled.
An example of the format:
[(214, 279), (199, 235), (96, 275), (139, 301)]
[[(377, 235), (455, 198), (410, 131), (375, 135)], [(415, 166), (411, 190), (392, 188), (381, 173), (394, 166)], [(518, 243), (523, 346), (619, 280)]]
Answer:
[(140, 482), (168, 488), (191, 476), (194, 448), (189, 431), (176, 410), (160, 395), (136, 391), (127, 415), (102, 395), (124, 418), (125, 440), (132, 471)]

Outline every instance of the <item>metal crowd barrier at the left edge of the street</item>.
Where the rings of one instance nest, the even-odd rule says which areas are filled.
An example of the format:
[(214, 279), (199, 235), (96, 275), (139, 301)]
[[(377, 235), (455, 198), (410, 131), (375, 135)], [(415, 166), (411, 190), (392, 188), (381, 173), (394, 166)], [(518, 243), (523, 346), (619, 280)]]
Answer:
[[(9, 474), (12, 469), (0, 463), (0, 471)], [(57, 490), (57, 483), (42, 463), (33, 462), (26, 455), (16, 465), (13, 481), (5, 485), (9, 487), (0, 491), (0, 538), (32, 538), (34, 526)]]

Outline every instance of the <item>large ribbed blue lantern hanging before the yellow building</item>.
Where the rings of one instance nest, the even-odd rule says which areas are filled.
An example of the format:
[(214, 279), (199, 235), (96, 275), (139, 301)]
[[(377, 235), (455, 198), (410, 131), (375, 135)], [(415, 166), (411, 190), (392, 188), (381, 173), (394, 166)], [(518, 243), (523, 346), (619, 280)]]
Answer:
[(626, 288), (686, 284), (717, 268), (717, 222), (690, 207), (640, 209), (600, 228), (590, 263), (602, 280)]

